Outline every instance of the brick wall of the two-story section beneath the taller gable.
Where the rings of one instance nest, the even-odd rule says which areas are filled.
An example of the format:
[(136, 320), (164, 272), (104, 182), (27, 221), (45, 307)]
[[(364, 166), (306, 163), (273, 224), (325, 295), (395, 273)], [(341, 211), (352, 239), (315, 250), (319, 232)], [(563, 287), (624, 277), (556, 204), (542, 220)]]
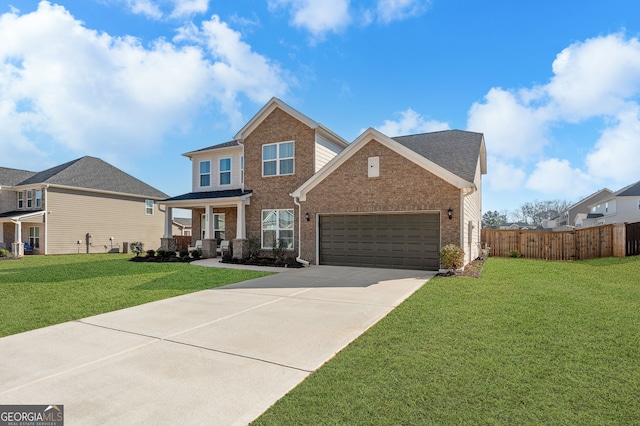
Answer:
[[(262, 145), (285, 141), (295, 142), (294, 174), (262, 177)], [(289, 194), (314, 174), (315, 130), (276, 108), (244, 140), (244, 156), (244, 187), (253, 190), (246, 207), (247, 238), (260, 238), (263, 209), (294, 209), (297, 253), (298, 211)]]

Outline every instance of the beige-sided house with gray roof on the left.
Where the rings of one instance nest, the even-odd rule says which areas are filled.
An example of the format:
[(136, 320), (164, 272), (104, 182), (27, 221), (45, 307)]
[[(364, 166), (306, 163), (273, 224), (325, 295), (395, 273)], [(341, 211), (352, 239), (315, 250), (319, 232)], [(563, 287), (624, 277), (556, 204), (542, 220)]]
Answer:
[(165, 198), (94, 157), (42, 172), (0, 167), (0, 246), (17, 255), (24, 243), (34, 254), (123, 251), (133, 241), (155, 249)]

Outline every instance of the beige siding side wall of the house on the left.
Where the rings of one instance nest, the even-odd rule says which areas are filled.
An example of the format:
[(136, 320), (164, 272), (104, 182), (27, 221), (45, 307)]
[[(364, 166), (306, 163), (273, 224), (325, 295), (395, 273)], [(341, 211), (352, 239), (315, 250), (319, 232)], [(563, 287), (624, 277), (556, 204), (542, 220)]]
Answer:
[[(164, 212), (157, 203), (153, 215), (147, 215), (144, 198), (59, 188), (48, 190), (47, 201), (47, 254), (87, 253), (87, 248), (89, 253), (122, 252), (123, 243), (132, 241), (142, 241), (145, 250), (160, 247)], [(86, 234), (91, 234), (89, 246)]]

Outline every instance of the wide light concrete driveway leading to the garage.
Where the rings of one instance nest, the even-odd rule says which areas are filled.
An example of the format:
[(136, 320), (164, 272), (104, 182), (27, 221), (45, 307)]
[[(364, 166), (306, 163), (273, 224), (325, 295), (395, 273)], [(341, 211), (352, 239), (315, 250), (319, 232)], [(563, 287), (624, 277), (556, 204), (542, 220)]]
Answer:
[(433, 276), (313, 266), (0, 339), (0, 404), (247, 424)]

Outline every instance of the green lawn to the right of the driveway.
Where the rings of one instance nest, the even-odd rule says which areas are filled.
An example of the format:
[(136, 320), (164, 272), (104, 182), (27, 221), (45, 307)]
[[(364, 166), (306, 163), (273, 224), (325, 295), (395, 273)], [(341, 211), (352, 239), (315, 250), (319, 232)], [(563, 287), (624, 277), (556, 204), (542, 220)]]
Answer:
[(640, 424), (640, 258), (431, 279), (255, 424)]

